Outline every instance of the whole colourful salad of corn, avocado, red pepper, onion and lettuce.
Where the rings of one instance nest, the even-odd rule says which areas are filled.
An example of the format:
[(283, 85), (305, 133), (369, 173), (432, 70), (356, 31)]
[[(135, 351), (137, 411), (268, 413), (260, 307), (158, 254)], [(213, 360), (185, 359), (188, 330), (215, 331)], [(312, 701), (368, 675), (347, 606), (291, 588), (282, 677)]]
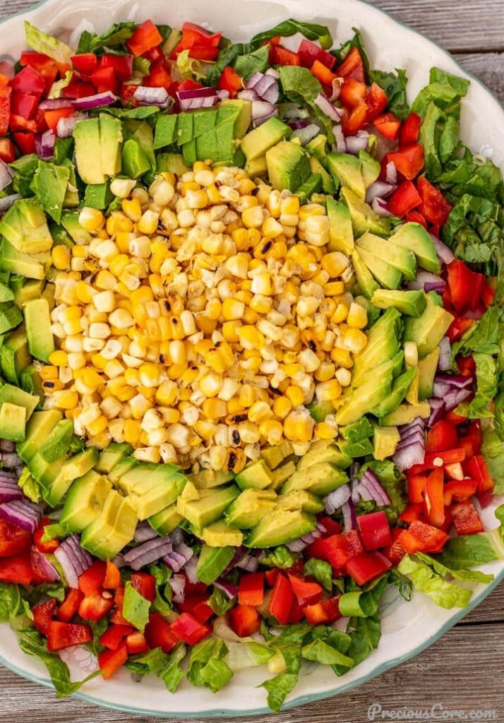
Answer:
[[(504, 182), (469, 82), (286, 20), (0, 64), (0, 620), (170, 693), (345, 675), (504, 557)], [(265, 672), (266, 677), (266, 672)], [(88, 680), (88, 678), (86, 679)]]

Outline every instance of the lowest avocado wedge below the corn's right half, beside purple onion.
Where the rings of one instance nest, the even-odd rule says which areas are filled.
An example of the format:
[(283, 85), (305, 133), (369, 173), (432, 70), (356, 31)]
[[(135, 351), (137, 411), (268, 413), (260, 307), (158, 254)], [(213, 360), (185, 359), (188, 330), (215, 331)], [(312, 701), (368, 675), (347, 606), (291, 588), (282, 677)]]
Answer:
[(277, 509), (250, 531), (245, 544), (247, 547), (277, 547), (308, 534), (316, 526), (315, 515), (300, 510)]

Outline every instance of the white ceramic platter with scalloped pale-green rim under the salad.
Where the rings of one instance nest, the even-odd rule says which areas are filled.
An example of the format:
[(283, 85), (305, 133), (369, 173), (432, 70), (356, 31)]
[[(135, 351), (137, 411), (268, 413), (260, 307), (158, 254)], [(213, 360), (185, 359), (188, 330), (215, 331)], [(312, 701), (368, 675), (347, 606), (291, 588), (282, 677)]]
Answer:
[[(202, 0), (173, 4), (161, 0), (46, 0), (30, 12), (3, 23), (0, 58), (15, 58), (25, 48), (24, 20), (30, 20), (46, 33), (59, 35), (76, 46), (82, 30), (102, 32), (113, 22), (140, 22), (149, 17), (174, 27), (191, 20), (223, 31), (236, 41), (247, 40), (288, 17), (328, 25), (336, 43), (350, 38), (352, 27), (357, 27), (364, 35), (372, 67), (406, 69), (410, 79), (410, 100), (426, 85), (429, 69), (434, 65), (467, 75), (435, 43), (358, 0), (318, 0), (317, 4), (306, 0), (212, 0), (210, 4)], [(472, 150), (488, 155), (503, 166), (504, 110), (497, 98), (479, 81), (474, 78), (471, 81), (471, 89), (464, 100), (462, 137)], [(496, 500), (484, 511), (484, 523), (488, 529), (497, 525), (493, 514), (497, 504)], [(383, 636), (378, 649), (343, 677), (336, 677), (329, 668), (313, 667), (300, 677), (286, 706), (328, 698), (355, 688), (430, 646), (504, 579), (504, 562), (485, 565), (482, 569), (493, 573), (495, 581), (488, 586), (477, 586), (471, 604), (463, 610), (436, 607), (422, 595), (414, 595), (410, 603), (403, 603), (387, 594), (388, 601), (382, 611)], [(67, 651), (64, 658), (76, 679), (85, 677), (95, 667), (93, 659), (85, 651)], [(1, 625), (0, 662), (42, 685), (51, 685), (43, 665), (22, 653), (15, 634), (7, 624)], [(171, 695), (156, 678), (134, 683), (124, 669), (111, 681), (105, 682), (99, 677), (92, 680), (77, 697), (132, 714), (205, 719), (214, 716), (257, 716), (268, 712), (265, 690), (255, 687), (265, 677), (264, 669), (249, 669), (236, 674), (217, 695), (203, 688), (192, 688), (187, 683)]]

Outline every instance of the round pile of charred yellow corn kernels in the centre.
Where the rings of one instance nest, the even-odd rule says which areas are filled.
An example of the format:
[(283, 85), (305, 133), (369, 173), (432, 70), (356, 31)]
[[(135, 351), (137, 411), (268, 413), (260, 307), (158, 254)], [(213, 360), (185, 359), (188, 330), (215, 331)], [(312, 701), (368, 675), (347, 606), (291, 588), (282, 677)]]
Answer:
[(367, 314), (325, 207), (205, 163), (111, 191), (119, 210), (83, 208), (85, 243), (52, 251), (46, 408), (98, 448), (184, 469), (336, 437), (334, 415), (316, 424), (305, 405), (341, 404)]

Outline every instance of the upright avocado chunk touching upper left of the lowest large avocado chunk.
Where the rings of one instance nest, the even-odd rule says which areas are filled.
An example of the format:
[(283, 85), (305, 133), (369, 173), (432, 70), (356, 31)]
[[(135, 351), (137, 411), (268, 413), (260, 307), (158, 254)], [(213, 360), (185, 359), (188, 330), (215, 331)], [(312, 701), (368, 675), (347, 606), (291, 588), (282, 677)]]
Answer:
[(82, 532), (100, 515), (111, 489), (111, 482), (93, 470), (76, 479), (61, 510), (60, 523), (69, 532)]

